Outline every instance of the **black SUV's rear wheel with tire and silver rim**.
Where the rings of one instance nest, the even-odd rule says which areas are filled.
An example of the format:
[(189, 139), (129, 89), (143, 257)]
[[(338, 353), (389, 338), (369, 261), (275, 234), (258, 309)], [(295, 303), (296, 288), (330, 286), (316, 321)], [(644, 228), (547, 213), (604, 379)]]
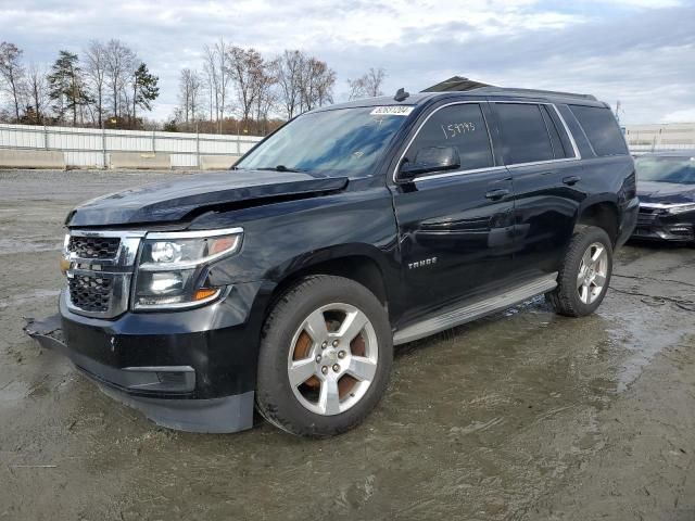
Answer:
[[(592, 263), (593, 267), (587, 269), (585, 255), (597, 256), (598, 245), (604, 249), (601, 262)], [(590, 249), (592, 252), (589, 252)], [(611, 274), (612, 243), (608, 233), (595, 226), (578, 226), (563, 260), (557, 277), (557, 288), (546, 293), (545, 300), (559, 315), (567, 317), (591, 315), (603, 302)], [(586, 283), (589, 283), (587, 287)]]

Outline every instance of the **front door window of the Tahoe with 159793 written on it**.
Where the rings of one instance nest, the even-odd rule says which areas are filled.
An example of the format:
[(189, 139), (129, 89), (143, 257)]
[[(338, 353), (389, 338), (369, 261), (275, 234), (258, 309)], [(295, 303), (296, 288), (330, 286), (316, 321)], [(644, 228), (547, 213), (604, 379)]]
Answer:
[(488, 127), (478, 103), (450, 105), (433, 113), (405, 157), (415, 162), (417, 153), (430, 147), (454, 147), (460, 157), (462, 170), (494, 165)]

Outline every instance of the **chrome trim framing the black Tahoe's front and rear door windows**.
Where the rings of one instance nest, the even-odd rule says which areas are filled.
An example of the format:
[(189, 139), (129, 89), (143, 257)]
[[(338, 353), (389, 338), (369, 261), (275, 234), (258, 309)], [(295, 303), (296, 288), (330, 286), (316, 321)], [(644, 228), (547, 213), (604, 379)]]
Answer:
[[(569, 138), (570, 144), (572, 145), (572, 151), (574, 152), (574, 156), (573, 157), (561, 157), (561, 158), (557, 158), (557, 160), (544, 160), (544, 161), (533, 161), (533, 162), (529, 162), (529, 163), (511, 163), (511, 164), (503, 164), (503, 165), (494, 165), (494, 166), (489, 166), (485, 168), (470, 168), (470, 169), (465, 169), (465, 170), (456, 170), (456, 171), (446, 171), (446, 173), (442, 173), (442, 174), (431, 174), (431, 175), (427, 175), (427, 176), (418, 176), (416, 177), (413, 181), (414, 182), (418, 182), (421, 180), (428, 180), (428, 179), (442, 179), (442, 178), (446, 178), (446, 177), (455, 177), (455, 176), (462, 176), (462, 175), (467, 175), (467, 174), (481, 174), (484, 171), (495, 171), (495, 170), (502, 170), (504, 168), (516, 168), (516, 167), (522, 167), (522, 166), (536, 166), (536, 165), (548, 165), (552, 163), (568, 163), (568, 162), (573, 162), (573, 161), (581, 161), (582, 160), (582, 155), (579, 152), (579, 147), (577, 147), (577, 141), (574, 140), (574, 136), (572, 136), (572, 132), (570, 131), (567, 122), (565, 120), (565, 117), (563, 117), (563, 114), (560, 114), (560, 111), (557, 109), (557, 105), (555, 103), (551, 103), (551, 102), (541, 102), (541, 101), (513, 101), (513, 100), (504, 100), (504, 101), (496, 101), (496, 100), (478, 100), (478, 101), (456, 101), (456, 102), (452, 102), (452, 103), (446, 103), (445, 105), (442, 106), (438, 106), (437, 109), (434, 109), (430, 114), (428, 114), (428, 116), (425, 118), (425, 120), (418, 126), (417, 130), (415, 131), (415, 134), (413, 135), (413, 137), (408, 140), (408, 144), (405, 147), (405, 149), (403, 150), (403, 153), (401, 154), (401, 157), (399, 158), (396, 166), (393, 170), (393, 182), (397, 183), (399, 181), (397, 179), (397, 175), (399, 175), (399, 165), (401, 164), (401, 162), (403, 161), (403, 157), (405, 157), (405, 154), (407, 153), (407, 151), (410, 149), (410, 145), (413, 144), (413, 142), (415, 141), (415, 139), (419, 136), (420, 130), (422, 130), (422, 127), (425, 126), (425, 124), (429, 120), (430, 117), (432, 117), (432, 115), (434, 115), (438, 111), (445, 109), (447, 106), (452, 106), (452, 105), (465, 105), (465, 104), (471, 104), (471, 103), (477, 103), (479, 105), (481, 105), (482, 103), (517, 103), (517, 104), (529, 104), (529, 105), (549, 105), (553, 107), (553, 110), (555, 111), (555, 114), (557, 114), (557, 117), (559, 118), (559, 120), (563, 124), (563, 128), (565, 129), (565, 132), (567, 132), (567, 136)], [(481, 107), (481, 112), (482, 112), (482, 107)], [(492, 136), (490, 135), (490, 126), (488, 124), (488, 119), (485, 118), (485, 114), (484, 112), (482, 113), (483, 116), (483, 120), (485, 122), (485, 129), (488, 131), (488, 139), (490, 141), (490, 150), (492, 152), (492, 158), (493, 161), (495, 161), (494, 157), (494, 144), (492, 141)], [(581, 126), (580, 126), (581, 127)], [(583, 129), (582, 129), (583, 131)], [(548, 136), (549, 139), (549, 136)]]

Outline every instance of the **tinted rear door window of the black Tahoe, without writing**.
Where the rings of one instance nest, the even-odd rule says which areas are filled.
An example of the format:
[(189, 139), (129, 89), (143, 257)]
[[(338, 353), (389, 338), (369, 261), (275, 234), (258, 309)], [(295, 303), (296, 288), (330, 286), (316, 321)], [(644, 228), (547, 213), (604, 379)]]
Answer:
[(541, 107), (532, 103), (496, 103), (502, 153), (507, 165), (555, 158)]

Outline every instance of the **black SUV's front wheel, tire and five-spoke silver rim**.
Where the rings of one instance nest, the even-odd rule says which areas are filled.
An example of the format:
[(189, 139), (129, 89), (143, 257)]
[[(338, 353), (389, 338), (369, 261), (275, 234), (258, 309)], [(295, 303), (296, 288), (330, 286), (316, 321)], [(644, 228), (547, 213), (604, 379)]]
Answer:
[(282, 294), (265, 321), (256, 407), (291, 434), (340, 434), (379, 403), (392, 363), (391, 325), (379, 300), (350, 279), (307, 277)]

